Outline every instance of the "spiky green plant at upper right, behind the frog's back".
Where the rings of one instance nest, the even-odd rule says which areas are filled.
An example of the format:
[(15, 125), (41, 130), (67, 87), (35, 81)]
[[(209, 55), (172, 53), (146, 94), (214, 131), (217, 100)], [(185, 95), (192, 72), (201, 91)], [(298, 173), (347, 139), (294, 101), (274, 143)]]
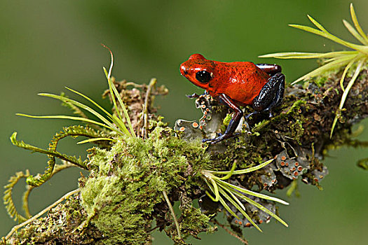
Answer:
[[(349, 24), (346, 20), (343, 20), (343, 25), (345, 25), (346, 29), (352, 34), (357, 41), (360, 41), (362, 45), (358, 45), (355, 43), (350, 43), (348, 41), (344, 41), (337, 36), (334, 36), (327, 31), (320, 23), (314, 20), (311, 16), (307, 15), (309, 20), (315, 25), (318, 29), (312, 27), (306, 27), (303, 25), (289, 25), (290, 27), (295, 27), (297, 29), (302, 29), (304, 31), (311, 32), (313, 34), (317, 34), (319, 36), (323, 36), (329, 40), (332, 40), (336, 43), (340, 43), (341, 45), (345, 46), (346, 48), (350, 48), (353, 50), (349, 51), (337, 51), (337, 52), (278, 52), (268, 55), (261, 55), (259, 57), (273, 57), (278, 59), (325, 59), (322, 66), (318, 69), (315, 69), (304, 76), (301, 76), (297, 80), (295, 80), (292, 84), (298, 83), (301, 80), (307, 80), (314, 76), (320, 76), (326, 71), (332, 69), (341, 69), (345, 66), (343, 70), (343, 74), (340, 79), (341, 89), (343, 90), (343, 95), (341, 96), (341, 101), (339, 104), (339, 109), (336, 110), (336, 116), (334, 118), (334, 123), (332, 123), (330, 137), (334, 132), (334, 127), (337, 123), (337, 120), (341, 117), (341, 110), (343, 109), (343, 104), (345, 104), (346, 98), (348, 97), (348, 93), (350, 88), (353, 86), (357, 76), (359, 75), (360, 71), (364, 64), (366, 64), (368, 59), (368, 37), (364, 34), (362, 27), (360, 27), (359, 22), (357, 21), (357, 16), (355, 15), (353, 3), (350, 3), (350, 15), (351, 19), (353, 20), (355, 28)], [(350, 78), (350, 81), (346, 87), (343, 86), (343, 80), (346, 78), (346, 73), (348, 73), (349, 69), (355, 69), (353, 76)]]

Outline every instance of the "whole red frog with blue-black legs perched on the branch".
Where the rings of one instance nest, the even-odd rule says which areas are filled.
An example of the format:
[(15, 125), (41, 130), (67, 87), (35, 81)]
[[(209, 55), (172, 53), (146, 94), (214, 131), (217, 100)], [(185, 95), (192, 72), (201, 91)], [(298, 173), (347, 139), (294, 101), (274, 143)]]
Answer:
[(180, 65), (180, 73), (235, 112), (224, 134), (203, 139), (212, 144), (235, 136), (234, 131), (243, 116), (240, 106), (250, 105), (254, 109), (245, 118), (256, 113), (268, 113), (271, 118), (272, 109), (280, 106), (285, 90), (285, 76), (277, 64), (217, 62), (194, 54)]

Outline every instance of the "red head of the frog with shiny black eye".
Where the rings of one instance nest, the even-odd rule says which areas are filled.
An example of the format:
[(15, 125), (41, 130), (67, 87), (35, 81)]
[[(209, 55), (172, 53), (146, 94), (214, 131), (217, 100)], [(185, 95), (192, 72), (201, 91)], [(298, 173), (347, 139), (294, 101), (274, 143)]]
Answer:
[(180, 73), (194, 85), (208, 90), (214, 78), (214, 62), (205, 59), (203, 55), (194, 54), (180, 65)]

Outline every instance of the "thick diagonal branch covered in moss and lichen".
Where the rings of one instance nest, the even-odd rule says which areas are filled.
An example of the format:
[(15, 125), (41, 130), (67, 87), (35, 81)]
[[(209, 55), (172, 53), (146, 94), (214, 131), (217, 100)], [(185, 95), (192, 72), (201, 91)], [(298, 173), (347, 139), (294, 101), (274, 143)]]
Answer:
[[(147, 86), (125, 81), (114, 83), (128, 110), (132, 128), (142, 130), (144, 127), (147, 137), (144, 133), (137, 134), (143, 138), (114, 135), (114, 141), (109, 144), (91, 148), (85, 165), (90, 174), (79, 179), (81, 193), (59, 204), (45, 218), (15, 232), (4, 243), (151, 244), (151, 231), (158, 229), (165, 231), (173, 241), (184, 244), (189, 236), (198, 238), (201, 232), (217, 230), (213, 223), (218, 223), (219, 212), (227, 214), (233, 235), (241, 238), (241, 228), (252, 226), (250, 219), (256, 225), (271, 220), (269, 214), (252, 203), (272, 213), (276, 211), (275, 203), (247, 195), (251, 201), (240, 200), (247, 218), (226, 202), (236, 214), (234, 217), (226, 212), (224, 205), (206, 197), (205, 192), (210, 188), (203, 179), (203, 170), (229, 172), (236, 162), (233, 169), (236, 172), (274, 159), (266, 167), (232, 174), (226, 181), (247, 190), (257, 186), (258, 193), (261, 190), (272, 193), (287, 187), (294, 190), (297, 179), (320, 187), (320, 181), (327, 174), (322, 160), (330, 148), (364, 145), (352, 139), (352, 127), (368, 116), (366, 68), (351, 88), (339, 116), (340, 122), (332, 139), (329, 138), (334, 110), (339, 107), (341, 96), (339, 72), (308, 80), (304, 85), (287, 87), (283, 104), (275, 109), (274, 118), (254, 116), (244, 123), (239, 137), (211, 146), (202, 144), (200, 138), (224, 130), (223, 119), (229, 112), (224, 106), (205, 102), (212, 110), (207, 111), (207, 115), (211, 115), (210, 120), (205, 121), (207, 127), (200, 130), (201, 122), (181, 120), (182, 126), (175, 131), (153, 113), (151, 101), (155, 94), (167, 92), (164, 88), (162, 92), (154, 90), (149, 99), (143, 99)], [(146, 101), (150, 103), (145, 112)], [(145, 126), (141, 120), (144, 113), (147, 113)], [(219, 123), (213, 123), (215, 120)], [(180, 213), (176, 218), (180, 236), (163, 191), (171, 204), (179, 202)], [(200, 202), (200, 207), (194, 204), (195, 200)], [(62, 223), (56, 223), (57, 220)], [(43, 230), (37, 229), (40, 226)]]

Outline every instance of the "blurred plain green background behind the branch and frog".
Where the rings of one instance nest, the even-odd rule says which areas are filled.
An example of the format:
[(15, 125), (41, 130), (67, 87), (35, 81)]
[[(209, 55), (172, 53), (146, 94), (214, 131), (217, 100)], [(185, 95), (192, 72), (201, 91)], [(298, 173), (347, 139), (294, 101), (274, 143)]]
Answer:
[[(200, 52), (220, 61), (252, 60), (278, 62), (288, 81), (314, 69), (315, 61), (280, 61), (257, 56), (281, 51), (329, 51), (341, 47), (330, 41), (287, 27), (289, 23), (311, 25), (310, 14), (333, 34), (350, 38), (341, 19), (350, 21), (351, 0), (279, 1), (1, 1), (0, 83), (1, 83), (1, 174), (0, 186), (17, 171), (43, 172), (44, 155), (29, 154), (11, 145), (9, 137), (46, 148), (55, 132), (69, 121), (21, 118), (15, 113), (57, 115), (69, 113), (60, 103), (38, 97), (38, 92), (60, 93), (72, 87), (97, 100), (107, 88), (102, 66), (109, 66), (114, 52), (114, 76), (148, 83), (152, 77), (165, 84), (170, 94), (158, 99), (160, 113), (173, 125), (175, 119), (200, 116), (185, 94), (200, 92), (179, 74), (179, 64)], [(360, 24), (368, 31), (367, 0), (353, 1)], [(362, 125), (368, 125), (365, 120)], [(359, 139), (368, 139), (367, 130)], [(82, 156), (86, 146), (67, 139), (60, 151)], [(289, 223), (284, 228), (271, 221), (264, 233), (245, 229), (251, 244), (367, 244), (368, 172), (356, 167), (367, 158), (367, 149), (341, 148), (325, 160), (329, 175), (323, 191), (300, 185), (301, 197), (285, 197), (280, 207)], [(32, 214), (77, 187), (79, 169), (68, 169), (53, 177), (30, 197)], [(20, 207), (22, 182), (15, 188)], [(15, 223), (0, 207), (0, 236)], [(172, 244), (160, 232), (154, 244)], [(239, 244), (221, 228), (216, 235), (201, 235), (193, 244)]]

